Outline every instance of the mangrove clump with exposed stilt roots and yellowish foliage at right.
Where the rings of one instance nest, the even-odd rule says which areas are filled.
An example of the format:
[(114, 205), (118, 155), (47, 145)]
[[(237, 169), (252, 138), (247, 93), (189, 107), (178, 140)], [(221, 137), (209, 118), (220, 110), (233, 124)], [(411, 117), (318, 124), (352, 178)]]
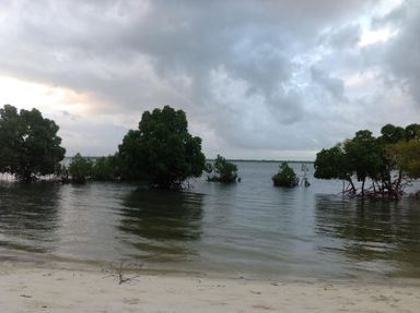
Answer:
[(369, 130), (358, 131), (353, 139), (316, 155), (315, 178), (346, 180), (350, 185), (346, 192), (353, 195), (358, 194), (355, 178), (362, 183), (362, 196), (369, 180), (370, 194), (398, 198), (408, 179), (420, 176), (419, 146), (419, 124), (405, 129), (386, 124), (378, 137)]

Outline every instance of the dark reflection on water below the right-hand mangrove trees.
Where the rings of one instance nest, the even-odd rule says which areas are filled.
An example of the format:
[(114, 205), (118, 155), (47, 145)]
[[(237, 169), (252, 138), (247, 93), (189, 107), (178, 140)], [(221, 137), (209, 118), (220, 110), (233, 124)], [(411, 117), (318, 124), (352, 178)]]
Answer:
[(316, 232), (327, 236), (320, 249), (340, 253), (352, 266), (420, 277), (420, 207), (401, 202), (316, 196)]

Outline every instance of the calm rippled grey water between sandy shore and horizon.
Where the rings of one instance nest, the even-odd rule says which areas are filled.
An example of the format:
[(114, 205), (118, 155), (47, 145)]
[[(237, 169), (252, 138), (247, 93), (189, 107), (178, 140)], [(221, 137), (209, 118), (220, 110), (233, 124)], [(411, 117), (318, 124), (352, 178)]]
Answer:
[(0, 257), (229, 277), (420, 277), (419, 198), (343, 200), (340, 181), (313, 178), (279, 189), (278, 164), (237, 165), (241, 183), (199, 179), (182, 193), (2, 182)]

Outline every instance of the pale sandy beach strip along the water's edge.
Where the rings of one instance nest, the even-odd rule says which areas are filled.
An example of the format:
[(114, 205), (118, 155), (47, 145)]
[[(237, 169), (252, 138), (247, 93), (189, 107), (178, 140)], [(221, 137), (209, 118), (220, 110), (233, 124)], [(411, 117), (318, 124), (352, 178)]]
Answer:
[[(264, 281), (0, 263), (0, 312), (420, 312), (418, 281)], [(126, 274), (126, 277), (132, 275)]]

